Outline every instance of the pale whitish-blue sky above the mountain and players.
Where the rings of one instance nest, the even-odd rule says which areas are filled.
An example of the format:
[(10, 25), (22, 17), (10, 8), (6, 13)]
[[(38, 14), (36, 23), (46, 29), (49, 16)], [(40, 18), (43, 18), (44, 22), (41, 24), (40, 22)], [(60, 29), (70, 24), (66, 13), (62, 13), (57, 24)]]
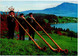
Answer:
[(52, 8), (60, 5), (63, 2), (77, 3), (77, 0), (62, 0), (62, 1), (38, 1), (38, 0), (0, 0), (0, 11), (9, 11), (8, 8), (13, 6), (14, 11), (25, 11), (25, 10), (43, 10), (46, 8)]

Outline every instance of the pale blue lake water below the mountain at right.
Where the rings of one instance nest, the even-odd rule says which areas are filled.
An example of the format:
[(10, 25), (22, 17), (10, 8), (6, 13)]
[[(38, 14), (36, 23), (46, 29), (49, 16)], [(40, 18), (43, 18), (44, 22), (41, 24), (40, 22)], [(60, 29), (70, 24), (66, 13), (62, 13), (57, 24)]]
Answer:
[(56, 27), (56, 28), (62, 28), (62, 29), (67, 29), (69, 28), (69, 30), (74, 31), (74, 32), (78, 32), (78, 23), (61, 23), (61, 24), (51, 24), (51, 27)]

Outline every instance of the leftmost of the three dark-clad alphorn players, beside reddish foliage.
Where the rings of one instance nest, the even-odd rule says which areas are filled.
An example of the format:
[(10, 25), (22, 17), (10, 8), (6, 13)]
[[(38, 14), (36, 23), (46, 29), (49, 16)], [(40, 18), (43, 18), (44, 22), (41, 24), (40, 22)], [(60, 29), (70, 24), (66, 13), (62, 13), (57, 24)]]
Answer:
[(14, 19), (14, 11), (9, 12), (9, 16), (7, 17), (8, 23), (8, 39), (13, 39), (14, 30), (15, 30), (15, 19)]

